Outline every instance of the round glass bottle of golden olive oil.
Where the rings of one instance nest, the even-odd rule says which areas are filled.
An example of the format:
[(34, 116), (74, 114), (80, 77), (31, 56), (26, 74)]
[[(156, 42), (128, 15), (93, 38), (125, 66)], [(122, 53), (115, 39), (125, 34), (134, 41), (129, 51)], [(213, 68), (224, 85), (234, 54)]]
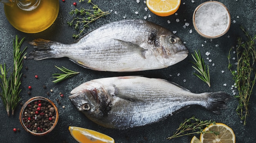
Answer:
[(47, 29), (58, 16), (58, 0), (10, 0), (4, 4), (4, 12), (10, 24), (26, 33)]

